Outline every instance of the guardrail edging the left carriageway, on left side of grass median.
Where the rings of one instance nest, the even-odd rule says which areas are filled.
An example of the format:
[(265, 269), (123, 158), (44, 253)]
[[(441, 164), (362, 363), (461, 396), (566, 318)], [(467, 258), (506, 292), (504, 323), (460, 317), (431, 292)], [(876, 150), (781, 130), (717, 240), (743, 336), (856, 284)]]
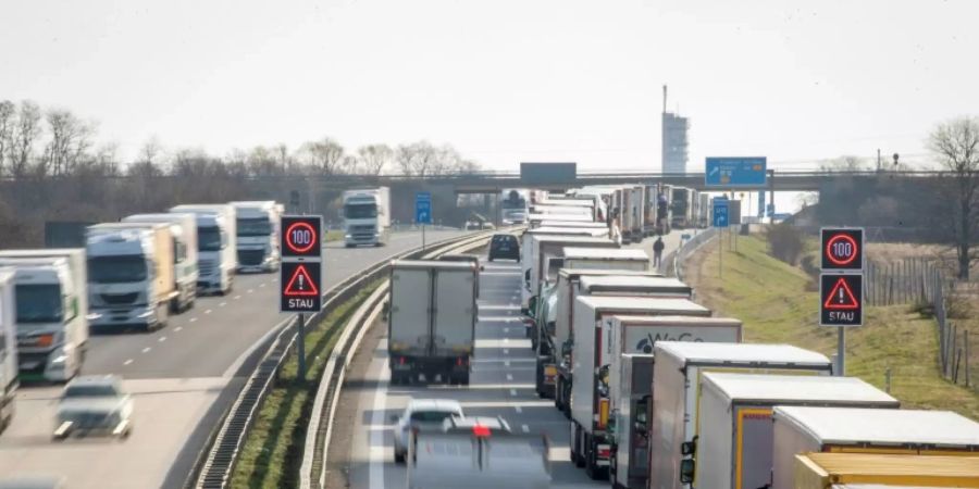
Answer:
[[(363, 273), (346, 278), (323, 293), (323, 311), (309, 317), (310, 324), (318, 324), (324, 317), (324, 312), (336, 304), (343, 303), (357, 294), (359, 289), (370, 281), (380, 278), (387, 271), (388, 263), (396, 259), (411, 259), (429, 256), (438, 250), (453, 247), (461, 242), (475, 239), (485, 239), (490, 233), (478, 233), (456, 238), (444, 239), (413, 250), (397, 253), (384, 261), (375, 263)], [(373, 296), (372, 296), (373, 297)], [(296, 322), (293, 316), (283, 324), (272, 340), (271, 346), (262, 355), (261, 361), (252, 371), (238, 397), (222, 416), (220, 428), (210, 437), (207, 448), (201, 451), (195, 469), (188, 475), (188, 486), (198, 489), (223, 489), (228, 487), (238, 453), (245, 443), (255, 415), (261, 409), (265, 396), (271, 390), (273, 380), (280, 368), (288, 358), (297, 340)], [(335, 350), (335, 349), (334, 349)], [(343, 352), (344, 358), (347, 352)]]

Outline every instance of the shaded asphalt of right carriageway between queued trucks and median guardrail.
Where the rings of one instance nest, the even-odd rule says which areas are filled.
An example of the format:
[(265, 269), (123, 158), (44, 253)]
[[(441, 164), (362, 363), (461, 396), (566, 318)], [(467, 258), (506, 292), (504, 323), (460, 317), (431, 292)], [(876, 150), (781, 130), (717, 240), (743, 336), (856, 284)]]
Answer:
[[(685, 233), (685, 231), (684, 231)], [(692, 234), (692, 231), (691, 231)], [(667, 252), (680, 243), (680, 231), (665, 238)], [(629, 248), (643, 248), (652, 256), (653, 238)], [(394, 463), (391, 416), (400, 414), (411, 398), (455, 399), (468, 415), (501, 415), (523, 432), (544, 432), (550, 440), (553, 487), (608, 487), (593, 481), (569, 461), (568, 421), (549, 399), (534, 392), (534, 355), (524, 337), (520, 316), (520, 265), (485, 262), (480, 275), (479, 324), (471, 384), (468, 388), (433, 385), (391, 386), (387, 367), (386, 324), (375, 325), (351, 363), (336, 417), (352, 418), (352, 426), (335, 426), (331, 443), (327, 488), (397, 489), (406, 487), (404, 465)], [(340, 480), (338, 474), (348, 474)], [(347, 486), (346, 484), (349, 484)]]

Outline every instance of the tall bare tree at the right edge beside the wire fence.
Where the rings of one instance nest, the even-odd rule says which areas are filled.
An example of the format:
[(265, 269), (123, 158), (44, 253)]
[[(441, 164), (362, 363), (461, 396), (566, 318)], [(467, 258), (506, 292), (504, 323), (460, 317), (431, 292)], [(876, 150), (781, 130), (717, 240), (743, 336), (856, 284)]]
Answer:
[(928, 148), (938, 156), (943, 168), (951, 173), (943, 188), (951, 205), (951, 236), (958, 259), (958, 278), (968, 280), (974, 256), (971, 243), (979, 221), (979, 118), (959, 117), (935, 126), (928, 138)]

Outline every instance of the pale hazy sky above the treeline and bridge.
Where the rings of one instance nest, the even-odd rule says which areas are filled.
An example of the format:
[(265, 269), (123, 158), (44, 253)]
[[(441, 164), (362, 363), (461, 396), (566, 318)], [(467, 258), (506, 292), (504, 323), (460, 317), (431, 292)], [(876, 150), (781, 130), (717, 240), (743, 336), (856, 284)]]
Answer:
[(707, 155), (925, 159), (979, 114), (976, 0), (0, 0), (0, 99), (134, 155), (332, 136), (659, 170), (662, 84)]

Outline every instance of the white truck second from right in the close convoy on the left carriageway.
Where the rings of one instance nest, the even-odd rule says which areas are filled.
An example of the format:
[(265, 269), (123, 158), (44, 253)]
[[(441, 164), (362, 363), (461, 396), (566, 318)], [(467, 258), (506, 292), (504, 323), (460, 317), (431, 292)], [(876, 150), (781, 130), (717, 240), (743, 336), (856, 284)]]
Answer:
[(197, 220), (197, 291), (226, 294), (238, 267), (235, 208), (227, 204), (184, 204), (170, 213), (190, 213)]

